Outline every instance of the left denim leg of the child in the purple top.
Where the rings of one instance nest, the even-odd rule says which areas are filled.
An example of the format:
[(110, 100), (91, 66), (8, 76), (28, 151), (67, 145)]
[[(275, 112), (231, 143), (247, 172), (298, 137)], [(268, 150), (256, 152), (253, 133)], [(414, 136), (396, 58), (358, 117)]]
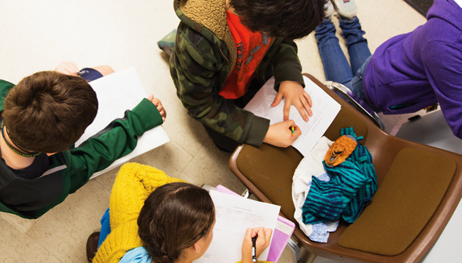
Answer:
[(326, 79), (343, 85), (353, 79), (353, 73), (335, 36), (335, 26), (331, 19), (326, 19), (316, 28), (318, 50), (323, 60)]

